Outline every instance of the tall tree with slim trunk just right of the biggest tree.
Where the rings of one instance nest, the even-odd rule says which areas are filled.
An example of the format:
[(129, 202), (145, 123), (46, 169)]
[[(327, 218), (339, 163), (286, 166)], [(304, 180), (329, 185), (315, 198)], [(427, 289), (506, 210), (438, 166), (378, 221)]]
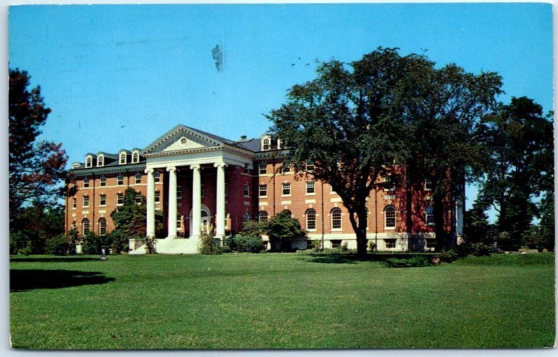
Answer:
[(482, 117), (502, 93), (502, 77), (494, 72), (475, 75), (451, 63), (413, 73), (415, 96), (405, 98), (409, 148), (407, 172), (411, 179), (432, 183), (432, 208), (437, 250), (451, 246), (446, 206), (461, 198), (465, 179), (481, 176), (485, 150), (481, 141)]

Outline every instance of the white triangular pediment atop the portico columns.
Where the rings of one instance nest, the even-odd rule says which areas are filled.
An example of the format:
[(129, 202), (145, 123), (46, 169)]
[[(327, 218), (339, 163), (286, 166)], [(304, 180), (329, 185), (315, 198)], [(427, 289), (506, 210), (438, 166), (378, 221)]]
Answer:
[(223, 142), (208, 135), (198, 132), (187, 126), (179, 125), (172, 128), (149, 144), (143, 151), (144, 154), (184, 151), (190, 149), (204, 149), (223, 146)]

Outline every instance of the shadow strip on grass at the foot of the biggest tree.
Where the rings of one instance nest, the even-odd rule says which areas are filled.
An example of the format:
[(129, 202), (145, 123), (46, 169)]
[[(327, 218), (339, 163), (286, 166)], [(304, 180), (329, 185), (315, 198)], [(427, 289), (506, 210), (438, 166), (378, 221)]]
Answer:
[[(307, 257), (310, 257), (308, 261), (311, 263), (357, 264), (360, 261), (377, 261), (389, 268), (430, 266), (431, 256), (423, 253), (369, 253), (365, 257), (359, 257), (354, 253), (308, 253), (307, 255)], [(425, 264), (426, 261), (429, 264)]]

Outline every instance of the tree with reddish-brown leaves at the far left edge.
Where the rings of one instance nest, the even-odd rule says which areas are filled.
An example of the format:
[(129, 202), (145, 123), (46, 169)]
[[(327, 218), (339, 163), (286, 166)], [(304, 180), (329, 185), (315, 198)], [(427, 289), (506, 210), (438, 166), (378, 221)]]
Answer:
[(29, 89), (29, 79), (26, 71), (10, 70), (10, 222), (25, 204), (38, 199), (54, 202), (61, 197), (63, 187), (59, 184), (66, 176), (68, 158), (61, 144), (37, 141), (50, 109), (39, 86)]

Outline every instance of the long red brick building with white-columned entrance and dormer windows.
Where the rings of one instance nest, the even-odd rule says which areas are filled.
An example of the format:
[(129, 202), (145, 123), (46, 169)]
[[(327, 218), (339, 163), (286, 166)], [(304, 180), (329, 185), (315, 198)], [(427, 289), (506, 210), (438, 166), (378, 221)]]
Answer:
[[(156, 235), (155, 212), (163, 213), (161, 253), (195, 253), (199, 232), (210, 224), (223, 238), (240, 231), (247, 219), (268, 220), (284, 210), (308, 232), (308, 240), (293, 242), (294, 248), (306, 248), (310, 240), (323, 240), (326, 248), (356, 248), (340, 197), (329, 185), (283, 167), (282, 153), (280, 141), (266, 135), (232, 141), (182, 125), (145, 149), (87, 153), (85, 162), (72, 165), (75, 181), (69, 185), (77, 193), (66, 199), (66, 229), (112, 231), (110, 213), (133, 188), (138, 203), (146, 197), (147, 236)], [(435, 246), (429, 182), (402, 186), (372, 190), (368, 239), (378, 250), (429, 250)], [(447, 202), (445, 228), (459, 237), (462, 199)], [(130, 252), (144, 249), (130, 242)]]

